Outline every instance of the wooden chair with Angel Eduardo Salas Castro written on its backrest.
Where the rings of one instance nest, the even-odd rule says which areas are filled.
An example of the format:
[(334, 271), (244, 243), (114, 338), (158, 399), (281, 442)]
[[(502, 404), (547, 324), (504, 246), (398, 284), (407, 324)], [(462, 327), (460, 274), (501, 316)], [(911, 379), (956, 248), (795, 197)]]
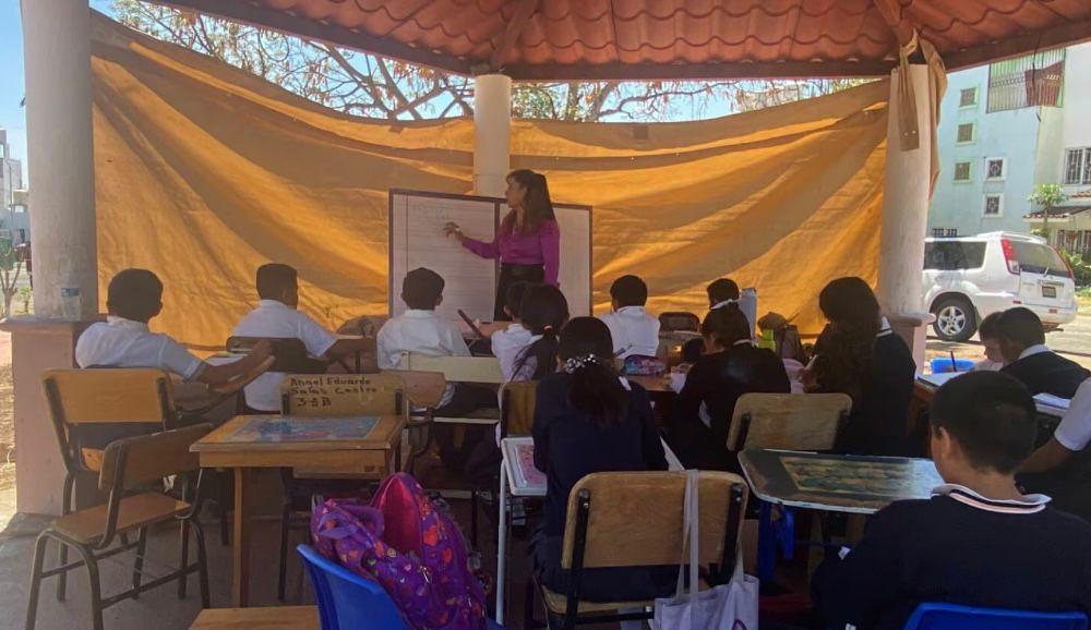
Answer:
[[(407, 412), (405, 384), (394, 374), (289, 374), (280, 384), (281, 411), (285, 415), (403, 415)], [(400, 463), (400, 448), (395, 462)], [(373, 478), (373, 477), (370, 477)], [(277, 599), (285, 599), (288, 571), (288, 537), (292, 514), (310, 514), (311, 497), (340, 493), (359, 486), (360, 477), (345, 475), (337, 469), (321, 467), (285, 469), (285, 500), (280, 512), (280, 560)], [(298, 529), (310, 526), (303, 519)]]

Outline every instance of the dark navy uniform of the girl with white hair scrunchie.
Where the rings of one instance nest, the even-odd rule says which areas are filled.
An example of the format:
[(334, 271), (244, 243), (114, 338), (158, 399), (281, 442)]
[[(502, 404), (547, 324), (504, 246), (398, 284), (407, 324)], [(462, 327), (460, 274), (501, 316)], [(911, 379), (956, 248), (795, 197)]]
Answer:
[[(573, 376), (550, 374), (538, 384), (535, 407), (535, 465), (546, 473), (546, 508), (533, 545), (535, 570), (552, 591), (564, 593), (567, 572), (561, 570), (561, 540), (568, 495), (584, 476), (607, 471), (667, 470), (667, 458), (648, 392), (624, 380), (628, 412), (602, 424), (570, 401)], [(673, 592), (676, 569), (590, 569), (584, 572), (582, 598), (610, 602), (651, 598)]]

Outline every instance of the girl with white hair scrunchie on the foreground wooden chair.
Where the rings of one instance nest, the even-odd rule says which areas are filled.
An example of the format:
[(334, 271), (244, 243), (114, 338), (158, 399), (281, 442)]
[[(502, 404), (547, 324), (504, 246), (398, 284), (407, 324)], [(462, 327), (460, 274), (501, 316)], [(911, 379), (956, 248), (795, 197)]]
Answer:
[[(535, 465), (547, 476), (544, 519), (532, 549), (535, 570), (551, 591), (566, 591), (561, 541), (568, 494), (584, 476), (604, 471), (667, 470), (648, 393), (618, 376), (610, 330), (576, 317), (561, 331), (562, 368), (538, 385)], [(664, 573), (664, 574), (661, 574)], [(594, 569), (582, 599), (650, 599), (673, 592), (675, 570)]]

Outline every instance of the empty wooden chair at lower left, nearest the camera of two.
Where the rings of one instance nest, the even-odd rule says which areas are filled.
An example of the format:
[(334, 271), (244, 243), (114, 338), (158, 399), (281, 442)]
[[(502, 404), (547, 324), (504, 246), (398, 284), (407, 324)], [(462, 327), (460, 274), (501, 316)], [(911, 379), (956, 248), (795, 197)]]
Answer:
[[(63, 578), (68, 571), (86, 567), (91, 580), (91, 610), (95, 630), (103, 628), (103, 609), (118, 602), (137, 598), (140, 593), (175, 580), (179, 585), (196, 572), (201, 582), (201, 604), (208, 607), (208, 570), (204, 533), (197, 514), (201, 511), (201, 477), (197, 456), (190, 452), (190, 445), (212, 431), (212, 425), (200, 424), (152, 435), (131, 437), (111, 443), (103, 457), (99, 488), (109, 493), (105, 505), (67, 513), (55, 520), (41, 532), (34, 547), (31, 569), (31, 593), (26, 608), (26, 628), (33, 630), (38, 610), (41, 580), (51, 576)], [(157, 492), (143, 492), (148, 484), (159, 483), (169, 475), (196, 472), (196, 487), (192, 504), (176, 500)], [(182, 530), (192, 530), (196, 538), (197, 561), (191, 564), (187, 549), (182, 552), (181, 566), (166, 576), (144, 582), (144, 561), (147, 548), (147, 530), (157, 523), (178, 520)], [(136, 532), (135, 543), (115, 538)], [(46, 547), (56, 541), (61, 548), (71, 547), (80, 560), (62, 560), (52, 569), (45, 568)], [(136, 549), (133, 562), (132, 587), (123, 593), (101, 596), (98, 561), (129, 549)], [(179, 587), (181, 596), (181, 587)], [(58, 589), (58, 599), (63, 590)]]

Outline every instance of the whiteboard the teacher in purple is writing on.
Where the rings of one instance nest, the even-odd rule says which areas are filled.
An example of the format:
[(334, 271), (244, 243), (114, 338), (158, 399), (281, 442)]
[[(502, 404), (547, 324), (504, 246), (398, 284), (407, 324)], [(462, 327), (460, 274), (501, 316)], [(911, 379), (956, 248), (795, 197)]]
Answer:
[[(561, 267), (558, 280), (568, 300), (573, 317), (591, 314), (591, 208), (553, 204), (561, 230)], [(493, 316), (499, 261), (481, 258), (453, 237), (443, 235), (443, 226), (455, 221), (467, 235), (491, 241), (508, 211), (504, 199), (421, 191), (392, 190), (389, 193), (391, 263), (389, 314), (405, 312), (401, 281), (418, 267), (443, 276), (442, 316), (459, 322), (458, 311), (475, 319)]]

